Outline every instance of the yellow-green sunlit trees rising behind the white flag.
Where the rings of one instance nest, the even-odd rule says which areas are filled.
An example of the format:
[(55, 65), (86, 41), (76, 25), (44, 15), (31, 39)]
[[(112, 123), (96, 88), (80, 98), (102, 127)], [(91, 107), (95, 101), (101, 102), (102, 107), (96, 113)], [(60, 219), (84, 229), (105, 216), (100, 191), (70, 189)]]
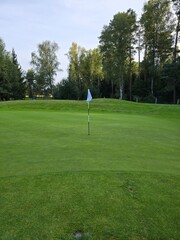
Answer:
[[(76, 89), (76, 97), (73, 94), (67, 99), (74, 99), (74, 97), (83, 99), (87, 88), (91, 88), (94, 96), (99, 97), (103, 79), (102, 55), (99, 49), (85, 50), (76, 43), (72, 43), (67, 56), (69, 58), (69, 76), (67, 83), (63, 82), (61, 85), (73, 86)], [(65, 95), (67, 96), (67, 93)]]

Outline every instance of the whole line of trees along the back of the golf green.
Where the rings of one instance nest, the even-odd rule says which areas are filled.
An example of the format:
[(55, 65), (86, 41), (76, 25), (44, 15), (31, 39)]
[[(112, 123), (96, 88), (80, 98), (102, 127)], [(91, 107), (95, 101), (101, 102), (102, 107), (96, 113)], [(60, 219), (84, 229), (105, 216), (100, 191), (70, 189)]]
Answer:
[(180, 0), (149, 0), (140, 19), (132, 9), (118, 12), (103, 27), (97, 48), (72, 43), (66, 54), (68, 77), (57, 84), (57, 43), (38, 44), (31, 54), (32, 68), (24, 72), (15, 50), (7, 52), (0, 39), (0, 99), (85, 99), (90, 88), (97, 98), (177, 103), (179, 32)]

